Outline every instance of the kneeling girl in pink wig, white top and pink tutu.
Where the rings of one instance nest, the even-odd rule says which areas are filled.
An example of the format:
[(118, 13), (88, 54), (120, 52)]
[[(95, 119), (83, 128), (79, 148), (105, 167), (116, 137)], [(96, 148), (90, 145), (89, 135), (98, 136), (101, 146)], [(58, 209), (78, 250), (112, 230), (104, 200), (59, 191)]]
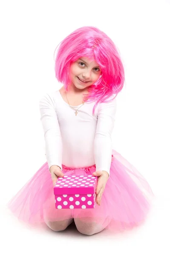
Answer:
[[(116, 96), (124, 67), (112, 40), (92, 26), (60, 44), (55, 58), (60, 90), (40, 99), (46, 160), (8, 206), (22, 221), (55, 231), (73, 221), (92, 235), (105, 228), (132, 229), (144, 222), (153, 192), (142, 175), (112, 149)], [(55, 209), (53, 186), (64, 175), (98, 177), (94, 209)]]

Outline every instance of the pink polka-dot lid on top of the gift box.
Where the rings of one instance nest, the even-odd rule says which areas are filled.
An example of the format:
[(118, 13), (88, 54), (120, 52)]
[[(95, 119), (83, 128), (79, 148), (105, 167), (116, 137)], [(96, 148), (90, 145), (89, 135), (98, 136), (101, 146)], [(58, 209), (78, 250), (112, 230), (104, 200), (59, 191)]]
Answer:
[(94, 194), (97, 177), (92, 175), (64, 175), (54, 186), (55, 195)]

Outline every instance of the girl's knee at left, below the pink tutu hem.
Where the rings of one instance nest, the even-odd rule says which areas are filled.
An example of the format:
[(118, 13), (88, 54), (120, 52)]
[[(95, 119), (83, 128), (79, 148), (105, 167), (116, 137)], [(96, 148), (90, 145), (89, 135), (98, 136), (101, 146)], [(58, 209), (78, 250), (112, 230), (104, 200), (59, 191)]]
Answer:
[(46, 225), (53, 231), (63, 231), (65, 230), (72, 222), (73, 219), (67, 219), (63, 221), (45, 221)]

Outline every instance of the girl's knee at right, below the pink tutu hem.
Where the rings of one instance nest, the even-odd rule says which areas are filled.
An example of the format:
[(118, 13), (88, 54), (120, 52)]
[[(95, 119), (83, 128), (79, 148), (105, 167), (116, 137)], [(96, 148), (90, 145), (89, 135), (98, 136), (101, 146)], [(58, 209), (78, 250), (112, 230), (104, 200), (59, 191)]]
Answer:
[(94, 235), (101, 232), (103, 228), (99, 226), (94, 219), (89, 221), (89, 218), (75, 218), (75, 225), (77, 230), (87, 236)]

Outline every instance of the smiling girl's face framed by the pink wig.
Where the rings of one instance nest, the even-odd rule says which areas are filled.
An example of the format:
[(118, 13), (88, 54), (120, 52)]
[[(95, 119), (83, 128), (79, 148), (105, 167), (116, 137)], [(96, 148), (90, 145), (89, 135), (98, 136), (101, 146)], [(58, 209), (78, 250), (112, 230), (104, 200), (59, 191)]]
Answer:
[(72, 85), (83, 90), (94, 84), (101, 74), (101, 68), (95, 60), (81, 57), (70, 66)]

